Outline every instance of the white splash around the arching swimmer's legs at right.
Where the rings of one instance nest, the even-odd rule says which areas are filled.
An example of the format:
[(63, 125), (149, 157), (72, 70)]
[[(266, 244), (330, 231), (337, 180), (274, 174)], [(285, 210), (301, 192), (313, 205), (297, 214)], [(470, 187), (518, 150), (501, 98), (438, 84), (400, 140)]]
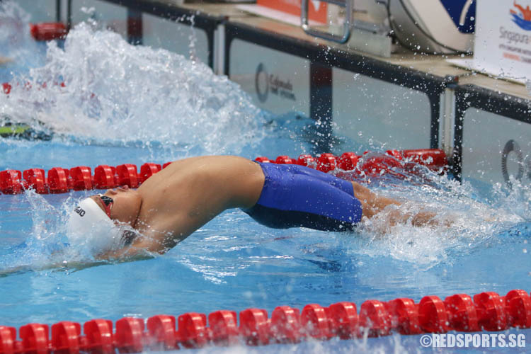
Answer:
[[(467, 182), (459, 183), (425, 172), (421, 181), (396, 178), (372, 181), (375, 193), (399, 200), (372, 219), (364, 219), (357, 233), (359, 239), (350, 248), (353, 253), (384, 256), (407, 261), (421, 268), (431, 268), (452, 259), (454, 254), (467, 254), (484, 247), (487, 241), (501, 242), (499, 235), (519, 223), (529, 222), (530, 188), (517, 185), (506, 190), (497, 185), (493, 200), (481, 200), (477, 190)], [(379, 185), (378, 185), (379, 184)], [(396, 224), (396, 213), (409, 219)], [(425, 226), (413, 226), (413, 216), (429, 215)], [(433, 216), (433, 218), (432, 218)]]

